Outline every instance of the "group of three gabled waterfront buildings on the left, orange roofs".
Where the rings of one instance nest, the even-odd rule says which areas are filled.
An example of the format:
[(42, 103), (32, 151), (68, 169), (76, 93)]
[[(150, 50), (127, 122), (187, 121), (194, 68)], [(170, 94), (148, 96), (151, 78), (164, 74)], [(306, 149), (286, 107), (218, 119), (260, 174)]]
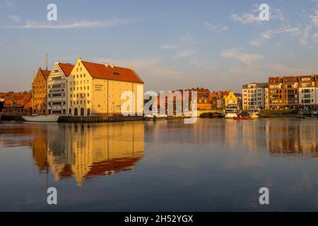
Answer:
[(143, 113), (144, 83), (134, 69), (76, 60), (55, 63), (52, 71), (38, 69), (33, 81), (33, 112), (73, 116), (122, 114), (125, 91), (131, 91), (134, 109)]

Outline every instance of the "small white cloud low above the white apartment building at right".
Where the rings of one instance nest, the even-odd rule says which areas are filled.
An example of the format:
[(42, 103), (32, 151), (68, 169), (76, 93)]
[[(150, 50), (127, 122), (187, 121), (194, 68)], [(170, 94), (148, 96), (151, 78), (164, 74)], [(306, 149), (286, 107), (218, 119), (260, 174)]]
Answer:
[(259, 54), (242, 54), (242, 50), (242, 48), (226, 49), (221, 52), (221, 57), (225, 59), (237, 59), (247, 65), (254, 63), (254, 61), (264, 59), (264, 57)]

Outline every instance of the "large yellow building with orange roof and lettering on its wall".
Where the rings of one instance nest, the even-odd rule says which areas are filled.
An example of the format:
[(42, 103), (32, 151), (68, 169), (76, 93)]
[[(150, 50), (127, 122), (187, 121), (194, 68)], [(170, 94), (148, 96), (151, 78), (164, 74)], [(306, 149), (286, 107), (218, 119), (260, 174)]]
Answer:
[[(143, 86), (134, 69), (96, 64), (78, 58), (67, 81), (68, 113), (73, 116), (122, 114), (125, 91), (134, 93), (131, 114), (143, 114)], [(126, 112), (124, 112), (126, 113)]]

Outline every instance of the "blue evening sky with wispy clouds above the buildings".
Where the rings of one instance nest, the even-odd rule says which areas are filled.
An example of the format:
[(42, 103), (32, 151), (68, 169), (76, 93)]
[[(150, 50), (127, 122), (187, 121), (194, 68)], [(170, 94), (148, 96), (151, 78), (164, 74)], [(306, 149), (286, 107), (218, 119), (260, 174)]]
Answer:
[(133, 67), (146, 90), (241, 92), (318, 71), (318, 0), (0, 0), (0, 92), (30, 90), (46, 52), (49, 69), (78, 57)]

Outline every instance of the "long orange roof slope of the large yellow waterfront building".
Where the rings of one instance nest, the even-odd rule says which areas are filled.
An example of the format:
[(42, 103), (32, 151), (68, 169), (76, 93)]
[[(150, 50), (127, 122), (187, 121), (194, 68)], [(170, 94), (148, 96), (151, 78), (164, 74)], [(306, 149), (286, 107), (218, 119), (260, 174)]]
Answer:
[(93, 78), (143, 83), (141, 78), (139, 78), (133, 69), (126, 69), (118, 66), (105, 66), (104, 64), (96, 64), (86, 61), (82, 61), (82, 63)]

